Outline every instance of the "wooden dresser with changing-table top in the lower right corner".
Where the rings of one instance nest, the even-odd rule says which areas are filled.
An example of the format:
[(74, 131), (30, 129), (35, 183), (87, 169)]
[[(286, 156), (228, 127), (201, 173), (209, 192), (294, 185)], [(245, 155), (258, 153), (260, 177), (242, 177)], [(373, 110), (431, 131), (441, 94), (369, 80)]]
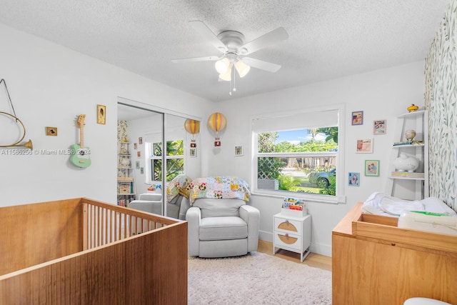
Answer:
[(333, 305), (402, 305), (414, 296), (457, 304), (457, 236), (399, 229), (361, 214), (359, 202), (332, 231)]

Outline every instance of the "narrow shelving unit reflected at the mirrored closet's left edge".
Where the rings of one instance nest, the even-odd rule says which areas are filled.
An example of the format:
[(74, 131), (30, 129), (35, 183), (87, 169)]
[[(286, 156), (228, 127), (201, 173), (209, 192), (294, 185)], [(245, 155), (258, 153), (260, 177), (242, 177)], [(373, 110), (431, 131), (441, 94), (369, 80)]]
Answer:
[[(118, 175), (117, 175), (117, 196), (119, 202), (128, 202), (135, 199), (135, 179), (133, 174), (131, 155), (129, 154), (129, 142), (118, 142)], [(124, 205), (124, 204), (121, 204)]]

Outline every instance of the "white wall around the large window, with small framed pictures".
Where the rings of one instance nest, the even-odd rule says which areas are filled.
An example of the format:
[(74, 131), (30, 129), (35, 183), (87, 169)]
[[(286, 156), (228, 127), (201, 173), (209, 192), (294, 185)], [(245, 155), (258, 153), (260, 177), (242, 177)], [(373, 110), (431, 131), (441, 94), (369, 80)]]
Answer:
[[(209, 146), (209, 175), (238, 175), (246, 180), (251, 176), (251, 138), (249, 117), (291, 109), (306, 109), (324, 104), (346, 105), (346, 160), (343, 164), (345, 177), (348, 171), (361, 173), (359, 187), (347, 186), (346, 204), (322, 204), (307, 202), (313, 217), (312, 251), (331, 255), (331, 230), (357, 201), (364, 201), (374, 191), (384, 191), (388, 161), (393, 143), (396, 116), (406, 112), (411, 104), (423, 106), (423, 61), (323, 81), (308, 86), (260, 94), (244, 99), (219, 103), (218, 111), (226, 115), (227, 127), (221, 137), (220, 149)], [(248, 76), (246, 76), (248, 77)], [(351, 126), (351, 112), (363, 111), (362, 126)], [(372, 123), (376, 119), (387, 120), (387, 134), (373, 136)], [(356, 154), (356, 139), (373, 138), (373, 154)], [(233, 156), (234, 146), (242, 145), (243, 156)], [(211, 154), (212, 152), (212, 154)], [(366, 159), (380, 160), (380, 176), (363, 176)], [(252, 184), (252, 181), (251, 181)], [(271, 241), (273, 214), (280, 211), (281, 199), (253, 195), (251, 204), (261, 211), (261, 239)]]

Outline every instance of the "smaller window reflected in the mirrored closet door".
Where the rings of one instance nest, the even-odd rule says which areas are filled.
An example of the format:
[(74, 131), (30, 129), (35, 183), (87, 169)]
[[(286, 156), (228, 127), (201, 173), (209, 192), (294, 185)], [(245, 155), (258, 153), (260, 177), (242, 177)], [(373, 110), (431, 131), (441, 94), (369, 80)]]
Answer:
[[(162, 143), (153, 142), (151, 147), (151, 181), (162, 181)], [(184, 174), (184, 141), (166, 141), (166, 181)]]

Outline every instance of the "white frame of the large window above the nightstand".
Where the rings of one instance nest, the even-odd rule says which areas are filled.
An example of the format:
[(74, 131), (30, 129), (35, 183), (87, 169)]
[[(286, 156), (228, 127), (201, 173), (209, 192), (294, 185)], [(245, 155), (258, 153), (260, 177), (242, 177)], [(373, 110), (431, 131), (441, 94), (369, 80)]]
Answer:
[[(296, 116), (297, 114), (310, 114), (313, 112), (321, 111), (338, 111), (338, 151), (310, 151), (310, 152), (297, 152), (297, 153), (258, 153), (258, 134), (253, 130), (253, 122), (258, 119), (273, 119), (278, 116)], [(335, 104), (328, 106), (308, 107), (307, 109), (294, 109), (292, 111), (284, 111), (281, 113), (272, 112), (268, 114), (261, 114), (258, 116), (251, 116), (250, 118), (250, 134), (251, 134), (251, 193), (259, 196), (271, 196), (283, 198), (286, 196), (298, 197), (304, 201), (315, 201), (329, 204), (346, 203), (345, 191), (345, 175), (344, 175), (344, 139), (345, 139), (345, 120), (344, 120), (345, 109), (343, 104)], [(303, 124), (304, 125), (304, 124)], [(309, 126), (303, 126), (302, 129), (310, 129)], [(258, 157), (281, 157), (281, 156), (336, 156), (336, 196), (325, 195), (325, 194), (309, 194), (293, 191), (283, 190), (267, 190), (258, 189), (257, 177), (258, 177)]]

